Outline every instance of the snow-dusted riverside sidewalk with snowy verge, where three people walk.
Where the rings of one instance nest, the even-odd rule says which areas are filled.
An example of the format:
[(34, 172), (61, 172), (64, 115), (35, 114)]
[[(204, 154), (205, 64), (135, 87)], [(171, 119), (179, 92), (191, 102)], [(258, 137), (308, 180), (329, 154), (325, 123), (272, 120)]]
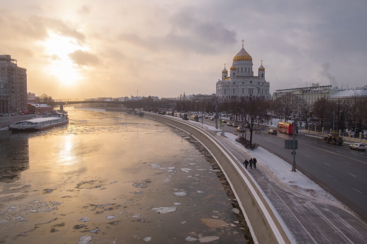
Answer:
[(245, 159), (257, 158), (257, 169), (247, 170), (298, 244), (367, 243), (367, 226), (305, 175), (291, 172), (290, 164), (263, 148), (247, 150), (229, 132), (225, 137), (218, 130), (208, 132), (232, 152), (242, 167)]

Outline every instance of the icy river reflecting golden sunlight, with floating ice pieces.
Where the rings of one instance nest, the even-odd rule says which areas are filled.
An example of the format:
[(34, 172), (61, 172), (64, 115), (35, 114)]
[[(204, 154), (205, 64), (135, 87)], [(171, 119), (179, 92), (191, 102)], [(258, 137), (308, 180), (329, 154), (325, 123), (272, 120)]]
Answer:
[(189, 135), (66, 110), (67, 126), (0, 139), (0, 243), (253, 243), (220, 168)]

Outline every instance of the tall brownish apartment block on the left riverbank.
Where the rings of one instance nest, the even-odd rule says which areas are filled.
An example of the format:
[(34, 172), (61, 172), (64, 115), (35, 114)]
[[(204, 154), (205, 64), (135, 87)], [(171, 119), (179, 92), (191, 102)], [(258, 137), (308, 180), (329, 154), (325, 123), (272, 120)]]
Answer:
[(19, 67), (17, 59), (0, 55), (0, 80), (8, 82), (9, 109), (20, 112), (27, 108), (27, 69)]

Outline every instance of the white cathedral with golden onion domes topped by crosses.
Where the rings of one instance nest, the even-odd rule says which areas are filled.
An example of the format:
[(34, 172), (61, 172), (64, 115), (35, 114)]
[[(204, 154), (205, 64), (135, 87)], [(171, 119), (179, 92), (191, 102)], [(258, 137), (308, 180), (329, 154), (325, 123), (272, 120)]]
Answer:
[(242, 48), (233, 58), (232, 66), (226, 70), (225, 64), (222, 70), (222, 80), (218, 80), (216, 86), (217, 97), (229, 99), (230, 97), (261, 97), (271, 99), (270, 84), (265, 80), (265, 68), (258, 69), (258, 76), (252, 71), (252, 57)]

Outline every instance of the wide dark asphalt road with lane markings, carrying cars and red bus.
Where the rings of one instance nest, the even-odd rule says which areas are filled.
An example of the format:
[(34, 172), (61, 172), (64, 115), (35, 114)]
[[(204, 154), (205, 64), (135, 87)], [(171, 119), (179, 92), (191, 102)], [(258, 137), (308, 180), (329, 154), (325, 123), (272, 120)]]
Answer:
[[(203, 122), (215, 126), (215, 121), (203, 119)], [(275, 125), (269, 128), (275, 128)], [(222, 129), (230, 133), (242, 134), (237, 132), (237, 128), (226, 124)], [(293, 136), (279, 132), (277, 135), (270, 135), (267, 131), (268, 129), (264, 133), (254, 133), (252, 141), (291, 164), (292, 150), (284, 149), (284, 140), (292, 140)], [(247, 139), (249, 138), (250, 134), (247, 132)], [(297, 169), (367, 222), (367, 151), (349, 149), (348, 145), (352, 143), (348, 141), (342, 145), (333, 145), (326, 143), (321, 137), (302, 133), (296, 136), (296, 140), (298, 140), (295, 157)]]

